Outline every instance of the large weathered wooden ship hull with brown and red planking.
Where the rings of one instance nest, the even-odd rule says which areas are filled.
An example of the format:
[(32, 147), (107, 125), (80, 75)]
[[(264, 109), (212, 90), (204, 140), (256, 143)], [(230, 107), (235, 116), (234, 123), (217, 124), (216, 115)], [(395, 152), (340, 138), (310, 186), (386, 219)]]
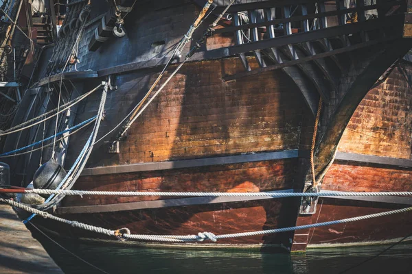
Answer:
[[(100, 1), (72, 1), (61, 27), (64, 36), (38, 49), (32, 64), (37, 84), (25, 92), (14, 125), (55, 108), (59, 90), (66, 103), (107, 77), (115, 87), (108, 91), (98, 138), (122, 125), (205, 2), (117, 1), (124, 8), (126, 36), (114, 38), (111, 32), (101, 32), (114, 7)], [(214, 13), (227, 2), (215, 1)], [(95, 145), (73, 189), (307, 191), (313, 182), (310, 149), (316, 128), (317, 191), (412, 191), (408, 1), (378, 1), (369, 3), (369, 8), (357, 1), (352, 10), (341, 7), (343, 1), (287, 2), (236, 1), (227, 13), (231, 16), (222, 19), (215, 34), (172, 77), (126, 136), (113, 148), (119, 132), (115, 130)], [(291, 15), (290, 5), (297, 7), (297, 14)], [(65, 27), (66, 21), (76, 18), (76, 11), (80, 16), (87, 6), (91, 7), (87, 23), (79, 27), (73, 21)], [(260, 18), (259, 10), (266, 15)], [(376, 10), (376, 16), (367, 18), (365, 10)], [(239, 16), (242, 12), (247, 18)], [(348, 23), (350, 12), (357, 12), (358, 21)], [(214, 18), (205, 19), (194, 41)], [(82, 36), (76, 36), (80, 31)], [(78, 43), (73, 37), (80, 37)], [(183, 57), (195, 45), (189, 44)], [(67, 65), (73, 47), (77, 61)], [(180, 62), (183, 59), (177, 58), (168, 66), (166, 77)], [(58, 131), (93, 117), (100, 96), (94, 92), (60, 116)], [(319, 105), (322, 110), (316, 119)], [(50, 119), (10, 134), (3, 151), (52, 136), (55, 124), (56, 119)], [(91, 131), (91, 126), (84, 127), (57, 143), (57, 157), (65, 169), (76, 161)], [(14, 185), (27, 186), (39, 164), (52, 154), (49, 146), (0, 160), (10, 165)], [(408, 197), (321, 197), (316, 202), (306, 212), (300, 197), (84, 196), (65, 197), (52, 212), (98, 227), (127, 227), (133, 234), (218, 235), (321, 223), (412, 204)], [(409, 234), (411, 214), (167, 246), (304, 251), (382, 244)], [(32, 223), (51, 235), (76, 240), (166, 246), (119, 241), (39, 216)]]

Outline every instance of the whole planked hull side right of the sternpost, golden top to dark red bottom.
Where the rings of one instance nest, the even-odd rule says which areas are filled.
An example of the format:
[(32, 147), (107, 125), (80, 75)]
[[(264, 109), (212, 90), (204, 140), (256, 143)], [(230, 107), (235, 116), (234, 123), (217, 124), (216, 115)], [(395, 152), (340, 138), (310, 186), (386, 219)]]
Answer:
[[(339, 143), (339, 151), (399, 159), (411, 158), (412, 91), (407, 74), (411, 64), (401, 61), (389, 77), (370, 90), (358, 105)], [(411, 191), (412, 171), (405, 166), (389, 166), (367, 162), (335, 160), (322, 184), (323, 190), (337, 191)], [(317, 212), (299, 216), (297, 225), (320, 223), (352, 216), (372, 214), (402, 208), (393, 203), (320, 199)], [(348, 244), (353, 242), (382, 242), (403, 237), (410, 231), (411, 213), (306, 229), (295, 234), (293, 250), (306, 245)]]

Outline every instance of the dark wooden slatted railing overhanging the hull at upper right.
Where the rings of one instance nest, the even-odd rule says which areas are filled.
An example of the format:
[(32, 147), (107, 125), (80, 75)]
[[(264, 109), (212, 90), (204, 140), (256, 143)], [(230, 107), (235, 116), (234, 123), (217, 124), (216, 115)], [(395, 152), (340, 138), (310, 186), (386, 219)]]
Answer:
[[(233, 34), (236, 45), (225, 52), (239, 55), (246, 72), (229, 75), (225, 80), (325, 58), (402, 36), (402, 16), (407, 12), (407, 0), (387, 0), (371, 5), (365, 5), (365, 0), (355, 0), (350, 7), (346, 7), (343, 0), (262, 1), (233, 5), (228, 12), (230, 24), (216, 29), (215, 33)], [(397, 25), (400, 27), (393, 30)], [(349, 38), (354, 35), (358, 39)], [(330, 38), (339, 39), (341, 45), (332, 47)], [(324, 52), (314, 52), (312, 41), (321, 41)], [(308, 55), (299, 58), (295, 47), (302, 44)], [(289, 60), (277, 58), (280, 47), (288, 47)], [(275, 64), (265, 61), (262, 50), (271, 53)], [(251, 70), (247, 53), (255, 55), (260, 69)]]

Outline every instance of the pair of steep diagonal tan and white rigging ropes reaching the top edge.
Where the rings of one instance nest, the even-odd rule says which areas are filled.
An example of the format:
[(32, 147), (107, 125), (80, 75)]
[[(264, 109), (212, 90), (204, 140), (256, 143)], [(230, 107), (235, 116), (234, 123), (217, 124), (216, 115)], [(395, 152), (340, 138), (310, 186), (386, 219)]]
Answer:
[[(117, 136), (115, 137), (115, 140), (113, 141), (112, 146), (114, 145), (114, 143), (116, 141), (120, 140), (122, 138), (122, 136), (124, 136), (124, 134), (126, 134), (127, 130), (130, 128), (130, 126), (133, 123), (135, 123), (136, 119), (141, 115), (141, 113), (144, 112), (144, 110), (148, 107), (148, 105), (157, 97), (157, 95), (159, 95), (159, 92), (161, 92), (161, 90), (163, 90), (163, 88), (166, 86), (166, 84), (168, 84), (168, 82), (170, 82), (170, 79), (172, 79), (172, 77), (174, 77), (174, 75), (176, 75), (176, 73), (179, 71), (179, 69), (181, 69), (183, 64), (185, 64), (185, 62), (187, 60), (189, 60), (190, 57), (192, 57), (192, 55), (194, 54), (194, 51), (196, 51), (197, 49), (199, 49), (201, 47), (203, 42), (205, 42), (205, 38), (207, 38), (207, 36), (210, 36), (214, 32), (214, 27), (216, 27), (216, 25), (218, 24), (218, 22), (220, 21), (222, 16), (227, 12), (227, 10), (229, 10), (230, 6), (234, 3), (234, 0), (231, 0), (229, 5), (227, 5), (227, 7), (225, 8), (225, 10), (223, 10), (223, 12), (218, 16), (218, 18), (216, 18), (214, 23), (211, 23), (211, 25), (209, 25), (206, 32), (203, 34), (203, 37), (201, 38), (201, 40), (196, 42), (196, 45), (189, 51), (189, 53), (187, 53), (185, 55), (185, 59), (183, 60), (183, 62), (181, 62), (181, 64), (179, 64), (179, 66), (177, 66), (177, 68), (173, 71), (173, 73), (170, 75), (170, 77), (168, 77), (168, 79), (166, 79), (166, 81), (162, 84), (162, 86), (159, 88), (159, 90), (157, 90), (157, 92), (154, 95), (152, 95), (152, 97), (146, 103), (146, 105), (144, 105), (144, 107), (141, 108), (141, 105), (143, 105), (143, 103), (149, 97), (150, 93), (153, 91), (155, 86), (159, 83), (161, 77), (163, 77), (163, 74), (165, 73), (165, 70), (168, 68), (168, 66), (170, 66), (170, 63), (172, 62), (172, 59), (175, 58), (176, 55), (178, 55), (178, 57), (180, 58), (180, 54), (181, 54), (181, 51), (183, 50), (183, 47), (187, 44), (187, 42), (190, 41), (190, 39), (192, 39), (192, 35), (193, 35), (194, 31), (198, 28), (198, 26), (201, 25), (201, 23), (203, 23), (202, 19), (203, 19), (203, 17), (205, 17), (205, 14), (207, 13), (207, 10), (209, 10), (209, 7), (210, 7), (211, 3), (213, 3), (212, 0), (207, 1), (205, 6), (203, 7), (203, 10), (198, 15), (198, 18), (196, 18), (194, 23), (190, 26), (190, 29), (187, 31), (187, 34), (185, 34), (185, 36), (183, 36), (181, 42), (179, 42), (179, 44), (174, 49), (174, 52), (170, 56), (170, 59), (169, 59), (168, 63), (163, 68), (163, 71), (161, 71), (159, 77), (157, 77), (155, 83), (152, 84), (152, 86), (150, 87), (150, 90), (146, 93), (144, 99), (142, 99), (139, 102), (139, 104), (137, 104), (135, 106), (135, 108), (133, 108), (133, 110), (126, 116), (126, 117), (129, 117), (129, 119), (126, 122), (126, 124), (123, 125), (123, 127), (120, 130), (119, 134), (117, 134)], [(209, 16), (209, 14), (207, 14), (207, 16)], [(126, 120), (126, 118), (124, 120)], [(123, 123), (123, 121), (121, 123)], [(119, 125), (117, 125), (117, 126), (119, 126)], [(110, 134), (110, 133), (111, 132), (109, 132), (108, 134)], [(106, 134), (105, 136), (107, 136), (108, 134)], [(100, 138), (100, 140), (102, 140), (102, 138)]]

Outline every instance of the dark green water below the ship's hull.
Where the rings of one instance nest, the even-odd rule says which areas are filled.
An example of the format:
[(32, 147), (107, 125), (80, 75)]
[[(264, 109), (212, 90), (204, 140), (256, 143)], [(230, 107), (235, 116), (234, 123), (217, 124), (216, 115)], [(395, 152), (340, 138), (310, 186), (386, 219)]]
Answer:
[[(47, 238), (47, 252), (65, 273), (102, 273), (73, 257)], [(400, 244), (378, 258), (387, 246), (312, 249), (305, 254), (259, 251), (205, 251), (78, 245), (60, 242), (71, 252), (107, 273), (412, 273), (412, 244)], [(365, 262), (365, 263), (363, 263)]]

